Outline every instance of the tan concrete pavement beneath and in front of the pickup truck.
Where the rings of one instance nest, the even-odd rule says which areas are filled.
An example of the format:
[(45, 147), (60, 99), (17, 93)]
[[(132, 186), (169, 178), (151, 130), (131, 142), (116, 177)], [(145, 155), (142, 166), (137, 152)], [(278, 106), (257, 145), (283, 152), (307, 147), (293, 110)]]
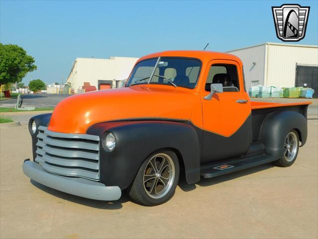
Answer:
[(318, 120), (288, 168), (265, 164), (195, 185), (143, 207), (62, 193), (30, 180), (27, 126), (0, 126), (0, 238), (318, 238)]

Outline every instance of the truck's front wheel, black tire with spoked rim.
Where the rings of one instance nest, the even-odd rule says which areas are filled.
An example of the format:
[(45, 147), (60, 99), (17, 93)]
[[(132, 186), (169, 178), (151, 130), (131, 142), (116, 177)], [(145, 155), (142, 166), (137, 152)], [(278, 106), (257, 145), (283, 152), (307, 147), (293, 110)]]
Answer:
[[(166, 161), (163, 161), (162, 158)], [(153, 166), (154, 162), (156, 166)], [(165, 165), (166, 162), (168, 162), (168, 166)], [(159, 166), (164, 167), (161, 172), (159, 172), (161, 170)], [(134, 182), (127, 189), (128, 194), (135, 202), (145, 206), (165, 203), (174, 195), (179, 181), (179, 173), (180, 168), (176, 154), (172, 151), (158, 151), (148, 157), (140, 166)], [(167, 184), (166, 187), (164, 187), (164, 182)]]

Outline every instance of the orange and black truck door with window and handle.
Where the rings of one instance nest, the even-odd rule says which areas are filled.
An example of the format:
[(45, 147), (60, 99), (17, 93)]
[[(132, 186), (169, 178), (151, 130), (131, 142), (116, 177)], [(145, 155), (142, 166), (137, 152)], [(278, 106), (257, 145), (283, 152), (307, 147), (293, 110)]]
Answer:
[[(230, 60), (213, 60), (209, 65), (201, 91), (202, 163), (241, 156), (251, 143), (251, 107), (243, 87), (242, 67)], [(224, 92), (205, 100), (203, 97), (209, 94), (211, 83), (223, 84)]]

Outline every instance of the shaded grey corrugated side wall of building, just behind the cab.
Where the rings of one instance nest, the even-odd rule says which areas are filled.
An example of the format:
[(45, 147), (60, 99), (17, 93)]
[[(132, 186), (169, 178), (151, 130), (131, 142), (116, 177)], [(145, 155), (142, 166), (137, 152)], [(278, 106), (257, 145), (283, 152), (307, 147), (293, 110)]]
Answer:
[(227, 53), (238, 56), (243, 62), (247, 90), (251, 86), (264, 85), (266, 44), (229, 51)]

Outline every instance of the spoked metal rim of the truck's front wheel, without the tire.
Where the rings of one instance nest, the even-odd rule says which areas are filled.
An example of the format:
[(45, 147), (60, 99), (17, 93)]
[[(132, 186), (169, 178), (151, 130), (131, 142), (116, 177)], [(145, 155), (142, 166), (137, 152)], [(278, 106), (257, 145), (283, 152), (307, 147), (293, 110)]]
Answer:
[(144, 187), (152, 198), (163, 197), (171, 188), (175, 175), (171, 157), (165, 153), (154, 155), (144, 173)]

